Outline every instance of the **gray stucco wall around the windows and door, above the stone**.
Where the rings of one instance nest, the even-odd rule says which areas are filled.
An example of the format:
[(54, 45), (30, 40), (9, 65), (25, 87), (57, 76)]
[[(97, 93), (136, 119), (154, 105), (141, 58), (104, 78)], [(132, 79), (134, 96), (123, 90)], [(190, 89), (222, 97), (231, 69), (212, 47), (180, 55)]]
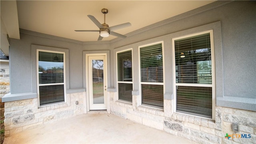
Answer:
[[(131, 32), (125, 39), (116, 38), (108, 42), (79, 42), (21, 30), (21, 40), (10, 39), (11, 94), (32, 92), (32, 87), (36, 85), (31, 82), (31, 44), (69, 49), (70, 88), (83, 87), (82, 51), (110, 50), (110, 87), (115, 87), (115, 49), (138, 48), (140, 44), (164, 40), (165, 51), (171, 53), (171, 38), (175, 34), (185, 34), (193, 28), (214, 22), (220, 23), (220, 37), (214, 38), (220, 43), (220, 55), (216, 56), (216, 77), (219, 76), (216, 78), (216, 104), (256, 111), (255, 1), (217, 1)], [(182, 33), (184, 30), (187, 32)], [(138, 51), (134, 52), (138, 55)], [(134, 66), (138, 67), (136, 59), (134, 57)], [(167, 65), (172, 64), (171, 60), (171, 56), (165, 56), (168, 69), (172, 68)], [(134, 75), (134, 78), (138, 76)], [(172, 85), (171, 73), (166, 73), (166, 82), (166, 85)], [(138, 86), (138, 83), (134, 84)], [(172, 94), (172, 87), (168, 93)]]

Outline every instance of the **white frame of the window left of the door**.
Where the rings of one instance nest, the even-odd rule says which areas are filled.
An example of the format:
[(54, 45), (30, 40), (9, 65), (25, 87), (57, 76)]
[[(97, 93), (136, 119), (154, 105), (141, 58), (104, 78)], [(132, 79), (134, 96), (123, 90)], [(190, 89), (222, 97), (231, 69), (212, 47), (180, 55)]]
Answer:
[[(59, 53), (63, 54), (63, 68), (64, 68), (64, 81), (63, 83), (53, 83), (53, 84), (39, 84), (39, 52), (52, 52), (52, 53)], [(58, 52), (58, 51), (52, 51), (52, 50), (41, 50), (41, 49), (36, 49), (36, 86), (37, 86), (37, 95), (38, 95), (38, 107), (44, 107), (44, 106), (51, 106), (55, 104), (62, 104), (66, 103), (66, 57), (65, 57), (65, 52)], [(62, 85), (64, 84), (64, 102), (57, 102), (57, 103), (52, 103), (52, 104), (46, 104), (43, 106), (40, 106), (40, 94), (39, 94), (39, 86), (52, 86), (52, 85)]]

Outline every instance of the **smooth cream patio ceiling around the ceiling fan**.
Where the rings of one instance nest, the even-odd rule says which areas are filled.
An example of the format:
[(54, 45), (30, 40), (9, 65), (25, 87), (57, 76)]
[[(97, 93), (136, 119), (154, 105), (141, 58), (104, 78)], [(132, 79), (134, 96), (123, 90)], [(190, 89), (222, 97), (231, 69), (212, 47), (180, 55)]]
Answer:
[[(130, 22), (132, 26), (116, 30), (127, 34), (161, 20), (182, 14), (214, 1), (210, 0), (18, 0), (19, 28), (70, 38), (79, 41), (96, 41), (98, 32), (75, 32), (74, 30), (98, 30), (98, 27), (87, 17), (94, 16), (104, 23), (101, 9), (107, 8), (106, 24), (115, 26)], [(112, 40), (115, 36), (103, 38)]]

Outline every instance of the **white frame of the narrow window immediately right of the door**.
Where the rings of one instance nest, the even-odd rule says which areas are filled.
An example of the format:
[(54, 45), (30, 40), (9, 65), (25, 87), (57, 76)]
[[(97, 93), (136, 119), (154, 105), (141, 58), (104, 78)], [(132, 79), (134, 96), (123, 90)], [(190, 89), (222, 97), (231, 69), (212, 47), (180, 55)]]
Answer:
[[(119, 99), (119, 87), (118, 87), (118, 84), (119, 83), (122, 83), (122, 84), (132, 84), (132, 90), (134, 90), (134, 80), (133, 80), (133, 52), (132, 52), (132, 82), (123, 82), (123, 81), (118, 81), (118, 53), (121, 53), (121, 52), (126, 52), (126, 51), (130, 51), (132, 50), (132, 48), (128, 48), (128, 49), (125, 49), (125, 50), (121, 50), (121, 51), (118, 51), (116, 52), (116, 87), (117, 87), (117, 100), (119, 101), (122, 101), (122, 102), (128, 102), (128, 101), (125, 101), (125, 100), (120, 100)], [(132, 103), (132, 102), (128, 102), (128, 103)]]

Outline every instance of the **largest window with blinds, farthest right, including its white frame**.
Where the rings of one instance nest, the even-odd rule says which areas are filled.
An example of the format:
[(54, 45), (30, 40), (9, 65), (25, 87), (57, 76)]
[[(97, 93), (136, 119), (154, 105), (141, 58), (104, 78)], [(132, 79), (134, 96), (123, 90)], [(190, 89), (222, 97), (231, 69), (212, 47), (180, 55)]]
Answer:
[(215, 106), (212, 30), (174, 38), (176, 112), (212, 118)]

